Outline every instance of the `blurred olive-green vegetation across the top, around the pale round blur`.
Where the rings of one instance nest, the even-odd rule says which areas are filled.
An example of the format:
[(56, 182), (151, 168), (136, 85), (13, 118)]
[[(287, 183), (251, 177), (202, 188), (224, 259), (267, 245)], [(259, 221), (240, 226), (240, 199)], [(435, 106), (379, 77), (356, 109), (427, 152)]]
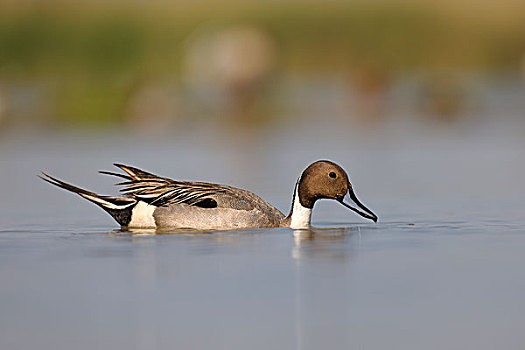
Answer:
[(281, 73), (517, 70), (525, 5), (454, 2), (36, 2), (0, 14), (0, 84), (45, 81), (59, 122), (113, 123), (139, 80), (174, 79), (203, 26), (272, 35)]

